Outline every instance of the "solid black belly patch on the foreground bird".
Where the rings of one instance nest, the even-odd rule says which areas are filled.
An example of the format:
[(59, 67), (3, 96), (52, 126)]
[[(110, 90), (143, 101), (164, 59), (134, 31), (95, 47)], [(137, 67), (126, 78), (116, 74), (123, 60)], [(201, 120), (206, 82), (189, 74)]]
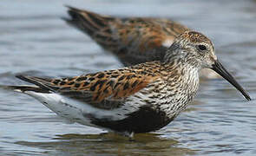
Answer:
[(97, 119), (92, 115), (84, 114), (89, 117), (92, 124), (100, 127), (107, 127), (117, 132), (147, 133), (165, 127), (174, 120), (168, 118), (163, 111), (155, 110), (151, 107), (140, 107), (140, 109), (123, 120)]

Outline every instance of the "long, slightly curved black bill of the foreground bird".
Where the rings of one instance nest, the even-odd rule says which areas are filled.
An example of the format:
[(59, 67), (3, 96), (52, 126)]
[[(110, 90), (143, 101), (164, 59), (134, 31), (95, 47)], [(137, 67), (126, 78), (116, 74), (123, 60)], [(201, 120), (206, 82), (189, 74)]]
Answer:
[(226, 79), (226, 81), (229, 81), (235, 88), (237, 88), (248, 101), (252, 100), (250, 95), (245, 91), (245, 89), (242, 88), (237, 81), (235, 81), (233, 76), (226, 71), (226, 68), (224, 68), (218, 60), (215, 61), (215, 63), (213, 64), (213, 70), (221, 75), (224, 79)]

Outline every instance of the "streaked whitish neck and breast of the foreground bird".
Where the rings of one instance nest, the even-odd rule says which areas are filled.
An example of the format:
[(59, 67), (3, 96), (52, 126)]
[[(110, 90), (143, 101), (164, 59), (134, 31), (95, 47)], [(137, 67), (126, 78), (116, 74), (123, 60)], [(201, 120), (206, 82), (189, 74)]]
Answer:
[(162, 102), (160, 109), (167, 112), (169, 117), (174, 117), (193, 101), (199, 88), (199, 68), (181, 62), (171, 66), (164, 64), (162, 68), (162, 80), (167, 83), (163, 88), (166, 90), (165, 100), (167, 102)]

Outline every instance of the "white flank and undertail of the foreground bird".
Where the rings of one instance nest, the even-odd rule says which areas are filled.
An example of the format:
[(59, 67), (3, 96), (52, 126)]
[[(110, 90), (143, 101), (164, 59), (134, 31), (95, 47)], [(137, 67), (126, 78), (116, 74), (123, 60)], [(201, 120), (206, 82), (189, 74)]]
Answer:
[(138, 107), (132, 106), (131, 103), (125, 104), (121, 107), (107, 110), (97, 107), (91, 107), (89, 104), (75, 101), (60, 94), (45, 94), (45, 93), (36, 93), (33, 91), (27, 91), (25, 94), (36, 98), (36, 100), (43, 103), (44, 106), (48, 107), (50, 110), (70, 122), (78, 122), (82, 125), (93, 126), (90, 123), (90, 119), (86, 116), (93, 116), (99, 120), (108, 119), (108, 120), (122, 120), (126, 118), (126, 114), (130, 114), (133, 111), (137, 110)]

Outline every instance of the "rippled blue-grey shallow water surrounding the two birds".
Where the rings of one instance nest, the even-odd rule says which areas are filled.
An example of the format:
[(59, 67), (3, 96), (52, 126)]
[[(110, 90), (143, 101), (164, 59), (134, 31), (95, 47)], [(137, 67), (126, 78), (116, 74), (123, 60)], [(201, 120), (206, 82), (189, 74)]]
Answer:
[[(165, 16), (209, 36), (217, 55), (256, 97), (256, 1), (0, 2), (0, 84), (14, 75), (82, 75), (119, 68), (88, 36), (69, 27), (63, 4), (116, 16)], [(197, 98), (167, 127), (135, 141), (67, 124), (38, 101), (0, 90), (1, 155), (254, 155), (256, 105), (222, 79), (202, 81)]]

